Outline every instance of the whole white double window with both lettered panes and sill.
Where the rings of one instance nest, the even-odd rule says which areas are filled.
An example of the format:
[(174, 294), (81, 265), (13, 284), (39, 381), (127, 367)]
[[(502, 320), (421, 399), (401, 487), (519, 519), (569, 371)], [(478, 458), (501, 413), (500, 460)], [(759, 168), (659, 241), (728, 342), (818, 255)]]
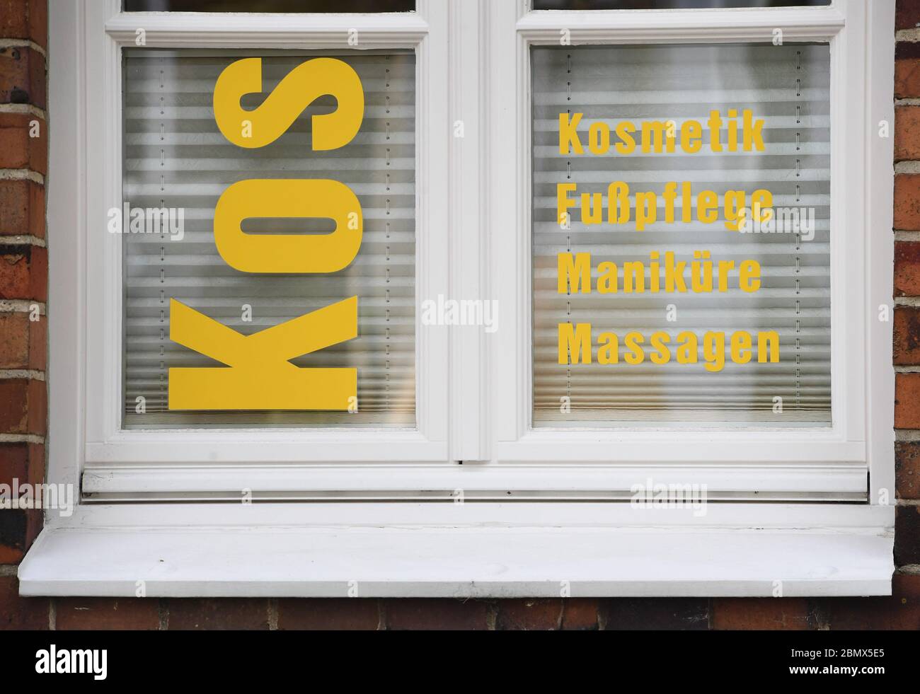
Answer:
[[(80, 505), (50, 518), (23, 591), (133, 595), (139, 579), (151, 597), (335, 597), (353, 581), (365, 597), (550, 597), (560, 582), (572, 596), (772, 595), (776, 580), (785, 595), (889, 590), (891, 7), (306, 5), (75, 0), (52, 16), (52, 104), (78, 117), (55, 119), (51, 141), (49, 477), (75, 484)], [(250, 59), (263, 88), (229, 99), (240, 112), (222, 128), (213, 92)], [(359, 75), (352, 140), (310, 146), (313, 117), (341, 107), (328, 92), (271, 142), (227, 137), (244, 138), (242, 116), (317, 60)], [(743, 151), (745, 118), (762, 151)], [(624, 121), (636, 151), (615, 149)], [(730, 122), (742, 151), (714, 150)], [(215, 210), (251, 179), (351, 188), (364, 212), (353, 262), (226, 262)], [(617, 183), (629, 192), (614, 187), (610, 205)], [(729, 229), (760, 188), (813, 210), (813, 236)], [(184, 209), (183, 239), (107, 233), (124, 203), (129, 216)], [(236, 210), (227, 228), (308, 245), (347, 226), (300, 204)], [(656, 251), (732, 261), (726, 290), (653, 291)], [(742, 278), (745, 261), (756, 267)], [(602, 275), (616, 292), (597, 289)], [(353, 296), (356, 337), (282, 357), (356, 369), (357, 413), (220, 406), (206, 388), (203, 404), (170, 409), (170, 370), (225, 370), (233, 341)], [(222, 326), (219, 353), (171, 336), (170, 300)], [(592, 363), (565, 363), (581, 354), (580, 323)], [(566, 325), (577, 348), (560, 364)], [(753, 338), (733, 355), (738, 331)], [(761, 346), (759, 331), (778, 339)], [(698, 335), (686, 363), (682, 332)], [(619, 339), (615, 364), (598, 363), (602, 333)], [(665, 334), (671, 361), (652, 361), (649, 340), (630, 363), (629, 333)], [(635, 503), (661, 484), (705, 499)]]

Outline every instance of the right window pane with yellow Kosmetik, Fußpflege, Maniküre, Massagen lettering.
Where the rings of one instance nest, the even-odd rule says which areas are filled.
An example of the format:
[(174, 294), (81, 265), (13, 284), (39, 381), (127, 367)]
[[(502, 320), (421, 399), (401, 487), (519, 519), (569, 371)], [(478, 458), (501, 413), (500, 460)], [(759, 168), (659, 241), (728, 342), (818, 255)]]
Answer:
[[(828, 46), (553, 47), (535, 48), (532, 60), (535, 425), (829, 423)], [(751, 151), (743, 151), (746, 110), (752, 126), (763, 119), (762, 151), (753, 129)], [(713, 111), (723, 120), (710, 126)], [(576, 138), (562, 137), (562, 131), (570, 133), (563, 125), (580, 113)], [(624, 128), (621, 136), (617, 127), (625, 122), (635, 131)], [(685, 128), (688, 142), (694, 135), (688, 122), (700, 128), (696, 153), (692, 147), (687, 153), (682, 144)], [(735, 152), (728, 151), (730, 123), (738, 125)], [(643, 131), (653, 135), (656, 127), (658, 144), (650, 138), (649, 151), (643, 152)], [(671, 152), (664, 142), (669, 129)], [(715, 142), (712, 132), (719, 133)], [(632, 152), (627, 137), (637, 143)], [(575, 140), (584, 154), (576, 154)], [(628, 188), (612, 187), (616, 182)], [(560, 188), (566, 184), (575, 188)], [(785, 233), (768, 233), (768, 224), (730, 231), (733, 210), (752, 208), (758, 190), (772, 194), (775, 226), (784, 208), (789, 215), (800, 212), (802, 224), (796, 227), (784, 212)], [(731, 194), (731, 206), (729, 191), (742, 191)], [(741, 205), (740, 195), (745, 196)], [(572, 202), (569, 220), (560, 214), (563, 197)], [(621, 204), (622, 199), (627, 202)], [(699, 216), (704, 203), (711, 204), (715, 219), (708, 212)], [(805, 222), (812, 213), (809, 232)], [(670, 273), (669, 252), (674, 254)], [(714, 290), (706, 290), (705, 275), (699, 290), (692, 284), (696, 252), (701, 261), (712, 262)], [(720, 261), (732, 263), (725, 267), (724, 291)], [(759, 288), (750, 283), (742, 288), (739, 270), (745, 261), (759, 264)], [(676, 279), (676, 264), (682, 262), (685, 291)], [(580, 284), (582, 264), (591, 272), (587, 288)], [(582, 293), (588, 288), (591, 293)], [(580, 325), (581, 334), (576, 332)], [(590, 363), (577, 363), (586, 329), (591, 331), (583, 343)], [(638, 349), (627, 343), (631, 333), (642, 336)], [(656, 333), (666, 337), (668, 359), (652, 345)], [(730, 340), (736, 333), (751, 336), (753, 348), (745, 351), (745, 338), (739, 336), (733, 360)], [(758, 349), (762, 333), (766, 342)], [(724, 365), (719, 364), (720, 337)], [(615, 348), (604, 350), (605, 343)], [(775, 343), (778, 360), (773, 362)], [(758, 362), (758, 353), (766, 363)], [(630, 363), (639, 356), (640, 363)]]

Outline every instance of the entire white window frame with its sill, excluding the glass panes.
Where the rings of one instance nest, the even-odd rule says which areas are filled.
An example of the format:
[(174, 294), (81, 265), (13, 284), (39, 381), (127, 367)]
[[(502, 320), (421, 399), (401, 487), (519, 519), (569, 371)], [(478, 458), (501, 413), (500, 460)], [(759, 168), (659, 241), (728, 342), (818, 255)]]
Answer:
[[(134, 595), (139, 580), (150, 597), (344, 596), (355, 580), (368, 597), (558, 596), (560, 582), (573, 596), (768, 596), (776, 581), (788, 596), (890, 593), (891, 323), (877, 316), (891, 306), (893, 173), (873, 124), (893, 123), (893, 1), (535, 12), (419, 0), (413, 16), (253, 17), (78, 0), (51, 24), (48, 478), (82, 480), (103, 503), (47, 512), (24, 594)], [(341, 48), (358, 28), (365, 47), (418, 51), (418, 296), (497, 299), (503, 321), (492, 336), (417, 331), (418, 431), (119, 430), (121, 240), (87, 229), (121, 199), (119, 47), (137, 28), (148, 47)], [(833, 427), (530, 427), (529, 50), (560, 28), (573, 45), (771, 40), (773, 28), (831, 42)], [(723, 497), (704, 518), (610, 503), (650, 473)], [(322, 503), (198, 503), (246, 488)], [(819, 503), (867, 491), (868, 503)], [(420, 503), (457, 495), (483, 503)], [(773, 501), (739, 503), (753, 498)], [(184, 503), (111, 503), (138, 499)]]

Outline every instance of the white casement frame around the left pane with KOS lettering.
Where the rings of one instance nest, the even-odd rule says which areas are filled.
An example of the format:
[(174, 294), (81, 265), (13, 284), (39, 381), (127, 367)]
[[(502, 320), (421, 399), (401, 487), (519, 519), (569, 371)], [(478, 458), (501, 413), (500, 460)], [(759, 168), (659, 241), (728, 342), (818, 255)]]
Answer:
[[(119, 234), (92, 233), (102, 215), (117, 207), (121, 186), (121, 49), (135, 46), (137, 30), (145, 32), (145, 47), (155, 48), (298, 48), (342, 49), (348, 32), (358, 30), (361, 48), (412, 49), (418, 53), (417, 161), (418, 244), (417, 279), (421, 296), (447, 293), (446, 234), (441, 233), (437, 210), (446, 203), (446, 187), (437, 163), (446, 154), (446, 138), (431, 134), (432, 123), (443, 110), (443, 86), (435, 74), (443, 69), (443, 51), (432, 40), (431, 22), (444, 23), (443, 12), (427, 10), (377, 16), (228, 15), (195, 13), (123, 13), (119, 0), (83, 6), (78, 19), (86, 22), (84, 44), (86, 89), (105, 95), (86, 99), (87, 122), (99, 123), (79, 133), (86, 139), (84, 215), (78, 218), (73, 252), (85, 258), (84, 293), (75, 297), (73, 317), (82, 321), (86, 336), (86, 378), (77, 395), (75, 411), (85, 412), (83, 449), (86, 469), (109, 463), (153, 465), (224, 461), (247, 463), (446, 461), (446, 363), (437, 355), (447, 350), (445, 331), (417, 331), (417, 427), (415, 430), (374, 427), (316, 429), (121, 429), (122, 350), (121, 283), (122, 239)], [(436, 7), (436, 6), (434, 6)], [(427, 10), (427, 11), (426, 11)], [(104, 32), (99, 28), (104, 26)], [(435, 34), (436, 35), (436, 34)], [(443, 43), (443, 40), (440, 41)], [(441, 63), (439, 63), (439, 61)], [(432, 72), (433, 71), (433, 72)], [(109, 203), (109, 200), (113, 201)], [(81, 243), (82, 242), (82, 243)], [(63, 243), (62, 243), (63, 245)], [(71, 250), (71, 249), (68, 249)], [(79, 301), (83, 297), (86, 301)], [(79, 317), (77, 317), (79, 316)], [(81, 329), (71, 326), (70, 329)], [(72, 343), (73, 344), (73, 343)], [(81, 346), (82, 347), (82, 346)], [(77, 347), (79, 351), (79, 347)], [(76, 384), (75, 384), (76, 385)], [(80, 444), (77, 443), (79, 448)], [(100, 472), (104, 476), (105, 472)], [(242, 488), (242, 487), (239, 487)]]

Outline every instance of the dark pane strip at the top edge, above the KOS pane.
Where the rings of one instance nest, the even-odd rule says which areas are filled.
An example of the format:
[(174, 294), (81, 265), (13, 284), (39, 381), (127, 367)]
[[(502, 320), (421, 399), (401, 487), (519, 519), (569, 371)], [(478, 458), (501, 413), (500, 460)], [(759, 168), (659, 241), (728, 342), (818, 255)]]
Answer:
[(124, 0), (125, 12), (413, 12), (415, 0)]

